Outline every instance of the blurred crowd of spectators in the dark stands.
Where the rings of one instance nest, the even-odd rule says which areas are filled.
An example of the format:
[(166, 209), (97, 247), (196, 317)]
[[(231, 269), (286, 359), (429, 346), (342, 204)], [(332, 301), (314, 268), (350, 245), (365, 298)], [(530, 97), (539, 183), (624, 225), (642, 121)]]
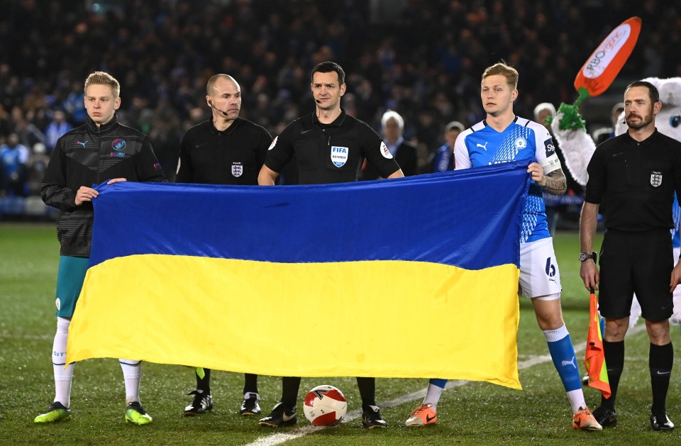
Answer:
[(235, 77), (241, 116), (275, 136), (313, 109), (309, 72), (333, 60), (347, 73), (343, 108), (377, 130), (384, 111), (400, 113), (421, 173), (447, 123), (482, 119), (480, 75), (499, 60), (521, 73), (514, 110), (533, 118), (540, 102), (572, 103), (577, 70), (638, 15), (620, 77), (681, 76), (681, 13), (663, 0), (0, 0), (0, 11), (0, 154), (26, 162), (4, 169), (0, 194), (39, 191), (56, 139), (87, 117), (96, 70), (121, 82), (119, 121), (172, 170), (184, 130), (209, 117), (212, 74)]

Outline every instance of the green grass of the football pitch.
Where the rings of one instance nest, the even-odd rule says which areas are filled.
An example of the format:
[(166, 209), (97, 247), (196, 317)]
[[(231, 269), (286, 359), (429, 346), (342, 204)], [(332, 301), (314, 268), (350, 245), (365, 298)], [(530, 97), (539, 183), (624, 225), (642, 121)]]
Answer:
[[(587, 333), (589, 301), (579, 277), (577, 233), (559, 233), (556, 254), (563, 282), (563, 313), (575, 345)], [(275, 433), (260, 428), (253, 418), (238, 416), (243, 377), (214, 372), (213, 413), (184, 418), (182, 410), (193, 389), (192, 372), (184, 367), (145, 363), (142, 398), (154, 417), (147, 426), (126, 425), (121, 369), (116, 359), (90, 359), (77, 364), (72, 389), (72, 418), (53, 425), (35, 425), (33, 418), (48, 408), (54, 396), (50, 349), (55, 333), (55, 281), (59, 245), (54, 225), (0, 225), (0, 445), (240, 445)], [(427, 338), (423, 327), (410, 328)], [(121, 327), (134, 330), (134, 327)], [(679, 328), (672, 340), (681, 345)], [(484, 333), (481, 333), (484, 335)], [(302, 333), (299, 341), (305, 342)], [(425, 342), (425, 341), (424, 341)], [(546, 355), (548, 350), (534, 313), (521, 300), (518, 335), (520, 360)], [(680, 355), (677, 354), (677, 357)], [(583, 353), (578, 355), (583, 372)], [(319, 429), (287, 445), (678, 445), (681, 429), (672, 433), (650, 430), (650, 377), (648, 337), (626, 338), (626, 364), (618, 396), (618, 428), (603, 433), (575, 432), (570, 428), (570, 407), (558, 375), (550, 362), (520, 371), (522, 391), (487, 383), (469, 383), (449, 389), (438, 406), (440, 421), (426, 429), (407, 429), (402, 423), (420, 401), (384, 408), (391, 427), (380, 432), (361, 428), (358, 419), (339, 428)], [(681, 423), (680, 370), (668, 397), (670, 418)], [(280, 379), (260, 377), (263, 410), (269, 411), (281, 392)], [(303, 379), (301, 393), (317, 384), (343, 390), (350, 410), (358, 408), (357, 386), (352, 378)], [(377, 398), (390, 401), (425, 388), (426, 379), (379, 379)], [(594, 407), (599, 392), (585, 389)], [(301, 407), (299, 406), (299, 410)], [(303, 418), (302, 412), (299, 413)], [(305, 426), (304, 418), (298, 427)], [(296, 432), (296, 428), (282, 430)]]

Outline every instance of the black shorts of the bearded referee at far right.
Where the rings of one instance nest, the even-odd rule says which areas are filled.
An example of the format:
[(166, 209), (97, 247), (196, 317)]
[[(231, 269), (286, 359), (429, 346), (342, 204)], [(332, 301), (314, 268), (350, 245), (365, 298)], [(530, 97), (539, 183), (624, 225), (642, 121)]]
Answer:
[(636, 293), (641, 316), (658, 322), (672, 316), (669, 291), (674, 262), (669, 230), (641, 233), (607, 230), (603, 238), (599, 310), (604, 318), (626, 318)]

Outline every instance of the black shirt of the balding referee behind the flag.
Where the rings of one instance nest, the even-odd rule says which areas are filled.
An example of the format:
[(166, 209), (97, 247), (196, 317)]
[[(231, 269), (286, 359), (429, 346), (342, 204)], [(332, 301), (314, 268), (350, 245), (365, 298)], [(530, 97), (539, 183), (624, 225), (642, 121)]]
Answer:
[(223, 132), (212, 121), (187, 130), (179, 145), (177, 183), (258, 184), (272, 137), (265, 128), (236, 118)]

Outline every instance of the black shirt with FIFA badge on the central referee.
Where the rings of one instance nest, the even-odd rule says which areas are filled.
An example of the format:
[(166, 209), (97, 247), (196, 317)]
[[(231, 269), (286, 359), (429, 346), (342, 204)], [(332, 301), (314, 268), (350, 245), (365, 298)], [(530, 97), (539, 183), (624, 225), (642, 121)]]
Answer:
[(265, 165), (282, 172), (293, 155), (299, 184), (355, 182), (365, 158), (384, 178), (399, 170), (378, 133), (343, 109), (330, 124), (314, 113), (290, 123), (272, 143)]

